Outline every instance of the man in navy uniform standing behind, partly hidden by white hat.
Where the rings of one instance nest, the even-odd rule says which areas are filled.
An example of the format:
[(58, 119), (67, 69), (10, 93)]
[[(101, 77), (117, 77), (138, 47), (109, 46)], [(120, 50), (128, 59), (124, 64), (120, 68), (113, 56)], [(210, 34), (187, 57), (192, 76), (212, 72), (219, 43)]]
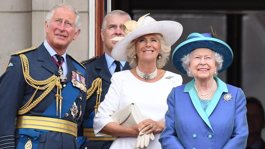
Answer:
[[(82, 126), (78, 130), (78, 144), (84, 149), (108, 149), (114, 138), (110, 135), (95, 137), (93, 130), (93, 119), (96, 110), (105, 98), (111, 84), (111, 77), (114, 72), (130, 69), (128, 62), (118, 62), (111, 57), (111, 51), (117, 41), (111, 41), (114, 37), (124, 37), (122, 24), (131, 20), (129, 14), (121, 10), (109, 12), (103, 20), (101, 38), (105, 43), (105, 53), (98, 59), (89, 63), (84, 62), (84, 66), (89, 71), (88, 75), (88, 99)], [(94, 82), (93, 82), (94, 81)], [(93, 82), (93, 83), (92, 83)], [(82, 140), (83, 139), (83, 140)]]

